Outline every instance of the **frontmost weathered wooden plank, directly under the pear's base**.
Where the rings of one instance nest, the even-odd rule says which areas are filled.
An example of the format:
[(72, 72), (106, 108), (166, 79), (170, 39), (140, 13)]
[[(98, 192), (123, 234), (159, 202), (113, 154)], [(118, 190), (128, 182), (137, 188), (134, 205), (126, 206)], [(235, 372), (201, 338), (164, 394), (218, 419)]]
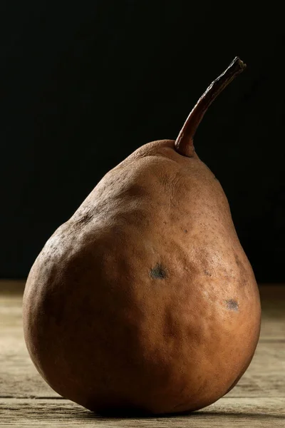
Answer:
[(1, 427), (284, 427), (284, 398), (223, 398), (192, 414), (106, 418), (63, 399), (0, 399)]

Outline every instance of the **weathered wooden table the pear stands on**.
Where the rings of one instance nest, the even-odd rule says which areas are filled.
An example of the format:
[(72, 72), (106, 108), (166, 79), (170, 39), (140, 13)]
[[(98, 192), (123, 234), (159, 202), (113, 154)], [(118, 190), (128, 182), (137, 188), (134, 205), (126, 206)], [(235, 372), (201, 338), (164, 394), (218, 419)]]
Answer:
[(0, 281), (0, 427), (285, 427), (285, 285), (260, 285), (257, 352), (226, 397), (189, 415), (99, 417), (62, 399), (28, 356), (21, 322), (24, 282)]

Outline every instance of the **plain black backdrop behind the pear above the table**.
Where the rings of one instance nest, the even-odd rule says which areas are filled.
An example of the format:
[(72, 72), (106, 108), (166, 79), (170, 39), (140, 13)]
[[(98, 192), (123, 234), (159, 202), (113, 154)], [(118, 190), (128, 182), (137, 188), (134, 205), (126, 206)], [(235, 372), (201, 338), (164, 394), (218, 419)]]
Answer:
[(253, 3), (1, 1), (1, 277), (26, 277), (135, 148), (175, 139), (238, 55), (247, 71), (207, 112), (195, 147), (257, 280), (284, 281), (283, 14)]

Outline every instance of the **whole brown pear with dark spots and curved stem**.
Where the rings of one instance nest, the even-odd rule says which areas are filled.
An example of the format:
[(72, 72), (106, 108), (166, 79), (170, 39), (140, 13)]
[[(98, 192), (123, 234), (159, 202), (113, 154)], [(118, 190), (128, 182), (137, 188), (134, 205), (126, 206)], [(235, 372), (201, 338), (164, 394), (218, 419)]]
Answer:
[(257, 347), (261, 306), (222, 186), (193, 136), (245, 65), (229, 65), (176, 141), (110, 170), (31, 267), (24, 337), (58, 394), (100, 414), (192, 412), (227, 394)]

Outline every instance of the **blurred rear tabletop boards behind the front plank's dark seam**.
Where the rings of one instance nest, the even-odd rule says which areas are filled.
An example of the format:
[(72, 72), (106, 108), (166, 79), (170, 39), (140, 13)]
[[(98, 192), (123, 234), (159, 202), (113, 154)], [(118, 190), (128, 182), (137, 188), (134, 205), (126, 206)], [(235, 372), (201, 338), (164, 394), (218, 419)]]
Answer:
[[(278, 290), (266, 291), (269, 296), (257, 352), (229, 397), (259, 397), (264, 392), (267, 397), (285, 397), (285, 300), (276, 297)], [(272, 301), (278, 302), (275, 310)], [(43, 381), (28, 356), (22, 332), (21, 294), (0, 293), (0, 326), (0, 397), (59, 397)]]

